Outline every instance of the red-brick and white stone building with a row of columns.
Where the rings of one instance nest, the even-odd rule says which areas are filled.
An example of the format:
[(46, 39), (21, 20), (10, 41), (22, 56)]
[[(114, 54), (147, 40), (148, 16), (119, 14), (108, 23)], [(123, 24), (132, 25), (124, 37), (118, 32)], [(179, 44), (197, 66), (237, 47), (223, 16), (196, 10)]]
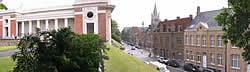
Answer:
[(0, 39), (20, 38), (24, 34), (71, 27), (77, 34), (99, 34), (111, 42), (110, 0), (75, 0), (73, 5), (38, 8), (31, 10), (7, 10), (0, 12)]

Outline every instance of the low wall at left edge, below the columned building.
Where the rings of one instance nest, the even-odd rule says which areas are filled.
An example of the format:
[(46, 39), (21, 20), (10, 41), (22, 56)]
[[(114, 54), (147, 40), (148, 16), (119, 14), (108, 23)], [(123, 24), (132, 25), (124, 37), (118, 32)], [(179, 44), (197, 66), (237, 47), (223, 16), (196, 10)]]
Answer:
[(18, 39), (0, 39), (0, 46), (13, 46), (17, 45)]

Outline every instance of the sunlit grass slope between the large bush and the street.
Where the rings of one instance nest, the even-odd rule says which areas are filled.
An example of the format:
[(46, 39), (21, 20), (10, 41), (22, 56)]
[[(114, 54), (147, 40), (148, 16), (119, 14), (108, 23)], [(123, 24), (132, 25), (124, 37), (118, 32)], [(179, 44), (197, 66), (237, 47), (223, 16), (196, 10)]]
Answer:
[(107, 51), (109, 60), (105, 60), (106, 72), (158, 72), (151, 66), (122, 52), (118, 48), (114, 48), (110, 45), (107, 46), (110, 50)]

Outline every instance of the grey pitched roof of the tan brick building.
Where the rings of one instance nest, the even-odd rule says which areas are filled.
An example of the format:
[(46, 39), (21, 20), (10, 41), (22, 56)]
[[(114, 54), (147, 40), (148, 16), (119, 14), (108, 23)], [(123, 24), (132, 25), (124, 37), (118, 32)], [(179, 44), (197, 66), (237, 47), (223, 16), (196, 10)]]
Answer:
[(220, 26), (217, 26), (217, 22), (214, 17), (220, 12), (221, 10), (212, 10), (201, 12), (198, 16), (196, 16), (186, 30), (195, 29), (196, 25), (202, 24), (208, 29), (221, 29)]

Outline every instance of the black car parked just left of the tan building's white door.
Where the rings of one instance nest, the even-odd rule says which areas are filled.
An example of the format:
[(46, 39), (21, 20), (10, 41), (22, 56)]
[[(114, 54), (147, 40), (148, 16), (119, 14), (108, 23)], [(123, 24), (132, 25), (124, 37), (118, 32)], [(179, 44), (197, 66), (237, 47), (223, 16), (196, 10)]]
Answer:
[(197, 66), (194, 66), (193, 64), (185, 64), (184, 70), (188, 72), (201, 72)]

